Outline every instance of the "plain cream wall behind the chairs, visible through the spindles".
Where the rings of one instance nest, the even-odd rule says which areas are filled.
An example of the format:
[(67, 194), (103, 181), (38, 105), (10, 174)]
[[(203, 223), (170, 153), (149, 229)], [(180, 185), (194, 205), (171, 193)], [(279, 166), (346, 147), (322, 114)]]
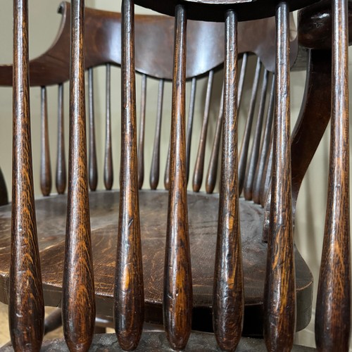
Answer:
[[(34, 58), (49, 47), (56, 36), (58, 25), (61, 21), (61, 15), (56, 13), (58, 8), (58, 0), (31, 0), (30, 2), (30, 58)], [(120, 11), (120, 1), (111, 0), (87, 0), (86, 5), (95, 8), (108, 9), (111, 11)], [(12, 62), (12, 1), (2, 1), (2, 10), (0, 11), (0, 63)], [(143, 8), (136, 8), (136, 13), (146, 13)], [(96, 128), (98, 138), (98, 157), (99, 170), (102, 170), (103, 163), (103, 139), (104, 139), (104, 91), (105, 91), (105, 73), (103, 68), (100, 68), (94, 84), (96, 92)], [(352, 70), (351, 70), (352, 71)], [(215, 77), (218, 89), (213, 91), (214, 104), (210, 112), (210, 119), (216, 118), (218, 101), (220, 99), (220, 82), (221, 75)], [(293, 73), (291, 75), (291, 116), (294, 121), (298, 115), (301, 104), (301, 96), (303, 94), (305, 82), (305, 73)], [(149, 90), (155, 92), (155, 96), (151, 103), (146, 106), (147, 116), (155, 116), (156, 107), (156, 92), (157, 82), (148, 82)], [(137, 81), (137, 91), (139, 82)], [(249, 91), (250, 84), (246, 87)], [(199, 86), (199, 94), (197, 99), (200, 101), (205, 96), (205, 81)], [(32, 114), (32, 137), (33, 137), (33, 161), (34, 161), (34, 177), (35, 191), (40, 194), (39, 189), (39, 89), (31, 91), (31, 114)], [(50, 118), (50, 134), (51, 134), (51, 161), (52, 172), (54, 175), (55, 146), (56, 146), (56, 88), (49, 89), (49, 118)], [(168, 98), (167, 98), (168, 97)], [(12, 93), (11, 89), (0, 88), (0, 149), (1, 153), (1, 168), (4, 171), (8, 189), (11, 189), (11, 128), (12, 128)], [(65, 101), (68, 101), (68, 85), (65, 85)], [(163, 130), (164, 135), (168, 136), (168, 120), (170, 120), (170, 86), (166, 87), (164, 100), (164, 120)], [(317, 107), (318, 108), (318, 107)], [(201, 111), (196, 111), (196, 125), (194, 141), (198, 139), (201, 125)], [(68, 127), (68, 111), (66, 108), (66, 127)], [(118, 69), (113, 70), (113, 91), (112, 91), (112, 117), (113, 117), (113, 134), (118, 136), (120, 131), (120, 78)], [(146, 136), (151, 138), (154, 133), (153, 118), (146, 123)], [(294, 122), (292, 122), (292, 126)], [(67, 128), (66, 128), (67, 130)], [(210, 136), (214, 133), (214, 127), (210, 127)], [(67, 133), (66, 133), (67, 135)], [(162, 142), (162, 163), (165, 162), (166, 151), (168, 148), (168, 139)], [(312, 164), (308, 170), (305, 180), (303, 181), (300, 195), (298, 196), (298, 206), (296, 213), (296, 244), (301, 250), (303, 257), (306, 259), (310, 269), (315, 277), (315, 288), (318, 284), (318, 270), (320, 263), (320, 253), (322, 248), (322, 235), (324, 228), (325, 207), (326, 207), (326, 187), (327, 187), (327, 170), (328, 170), (328, 149), (329, 135), (325, 134), (322, 144), (316, 153)], [(113, 139), (113, 156), (115, 181), (113, 187), (118, 187), (118, 164), (119, 164), (119, 144), (118, 138)], [(196, 149), (193, 148), (195, 153)], [(193, 160), (194, 160), (193, 153)], [(207, 153), (209, 155), (209, 153)], [(146, 149), (146, 165), (149, 165), (148, 160), (151, 158), (151, 148)], [(144, 184), (149, 182), (149, 167), (146, 166), (146, 174)], [(163, 181), (163, 172), (161, 172), (161, 182)], [(161, 183), (160, 182), (160, 183)], [(102, 187), (102, 175), (99, 174), (99, 187)], [(54, 187), (53, 187), (54, 189)], [(308, 345), (314, 344), (313, 339), (313, 323), (301, 332), (298, 337), (298, 342)]]

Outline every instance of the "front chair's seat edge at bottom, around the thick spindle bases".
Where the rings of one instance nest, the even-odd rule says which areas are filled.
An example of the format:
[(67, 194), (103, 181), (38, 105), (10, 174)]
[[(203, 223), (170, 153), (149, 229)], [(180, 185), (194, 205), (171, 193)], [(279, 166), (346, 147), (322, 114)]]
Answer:
[[(13, 351), (12, 347), (6, 347), (4, 352)], [(44, 341), (42, 345), (42, 352), (64, 352), (68, 351), (68, 347), (65, 344), (64, 339), (55, 339), (50, 341)], [(124, 351), (118, 346), (118, 341), (115, 334), (96, 334), (93, 338), (92, 346), (89, 348), (90, 352), (115, 352)], [(134, 351), (143, 352), (165, 352), (175, 351), (170, 348), (168, 340), (166, 339), (165, 332), (144, 332), (142, 339), (139, 342), (139, 346)], [(192, 332), (187, 347), (183, 351), (222, 351), (218, 346), (215, 346), (215, 337), (213, 334), (206, 332)], [(263, 339), (250, 339), (248, 337), (242, 337), (239, 341), (239, 345), (236, 349), (237, 352), (266, 352), (265, 344)], [(306, 346), (294, 345), (293, 352), (310, 352), (315, 351), (315, 348)]]

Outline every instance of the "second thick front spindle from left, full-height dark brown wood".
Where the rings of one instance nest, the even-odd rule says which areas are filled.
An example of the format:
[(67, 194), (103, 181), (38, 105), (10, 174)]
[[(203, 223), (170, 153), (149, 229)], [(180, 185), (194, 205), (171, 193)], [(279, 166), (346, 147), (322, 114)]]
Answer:
[(95, 319), (84, 96), (84, 0), (71, 6), (70, 144), (63, 267), (63, 333), (70, 351), (88, 351)]

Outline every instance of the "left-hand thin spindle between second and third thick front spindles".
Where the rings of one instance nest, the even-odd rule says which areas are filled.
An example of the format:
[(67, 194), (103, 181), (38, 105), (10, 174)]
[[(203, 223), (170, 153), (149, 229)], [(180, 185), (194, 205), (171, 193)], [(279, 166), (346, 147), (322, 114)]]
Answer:
[(95, 122), (94, 122), (94, 75), (93, 68), (88, 70), (88, 115), (89, 115), (89, 188), (96, 190), (98, 184), (98, 167), (96, 165), (96, 142), (95, 142)]

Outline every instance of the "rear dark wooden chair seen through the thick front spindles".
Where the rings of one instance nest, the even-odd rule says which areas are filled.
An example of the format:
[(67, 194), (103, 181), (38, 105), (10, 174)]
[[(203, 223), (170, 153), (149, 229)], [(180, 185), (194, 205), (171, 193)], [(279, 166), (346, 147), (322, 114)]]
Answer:
[[(63, 85), (62, 83), (68, 80), (69, 77), (69, 28), (70, 28), (70, 4), (63, 3), (59, 8), (59, 12), (63, 15), (63, 21), (60, 30), (56, 37), (56, 41), (51, 46), (49, 51), (46, 51), (39, 58), (30, 61), (30, 85), (42, 87), (42, 104), (46, 106), (45, 90), (47, 85), (58, 84), (59, 99), (62, 99)], [(251, 104), (249, 107), (249, 116), (246, 122), (246, 140), (243, 144), (243, 160), (248, 159), (248, 166), (242, 168), (242, 180), (244, 184), (244, 191), (249, 193), (251, 186), (248, 186), (249, 170), (256, 167), (256, 162), (250, 163), (254, 157), (251, 158), (251, 150), (249, 146), (250, 131), (253, 130), (252, 125), (256, 122), (254, 110), (256, 105), (260, 105), (258, 122), (265, 123), (268, 130), (267, 136), (270, 136), (272, 109), (264, 111), (265, 99), (270, 100), (270, 82), (272, 80), (272, 71), (275, 69), (275, 57), (272, 48), (275, 47), (274, 32), (275, 21), (261, 20), (256, 22), (262, 29), (260, 36), (256, 35), (256, 26), (253, 23), (242, 23), (239, 27), (241, 41), (239, 51), (244, 53), (242, 61), (242, 81), (248, 76), (249, 69), (246, 69), (246, 62), (250, 60), (248, 55), (250, 52), (258, 56), (256, 63), (256, 77), (253, 82), (253, 89), (251, 93)], [(111, 48), (111, 43), (116, 43), (120, 46), (120, 31), (121, 31), (121, 17), (119, 13), (110, 13), (106, 11), (97, 11), (90, 8), (85, 10), (85, 32), (86, 37), (89, 38), (85, 47), (86, 59), (85, 67), (89, 68), (89, 120), (91, 126), (94, 125), (94, 92), (92, 90), (93, 70), (92, 67), (97, 65), (106, 65), (107, 72), (110, 75), (110, 65), (120, 65), (120, 53)], [(172, 37), (173, 37), (173, 19), (163, 16), (143, 16), (137, 15), (135, 20), (136, 27), (136, 66), (137, 70), (142, 73), (142, 95), (146, 94), (146, 77), (159, 80), (159, 104), (163, 102), (163, 86), (167, 84), (168, 80), (172, 79)], [(148, 37), (146, 37), (146, 33)], [(153, 33), (153, 34), (151, 34)], [(161, 33), (161, 34), (160, 34)], [(210, 93), (213, 82), (213, 70), (218, 70), (222, 66), (223, 61), (223, 29), (220, 23), (196, 23), (191, 21), (189, 23), (189, 48), (196, 46), (197, 42), (201, 42), (202, 38), (207, 37), (207, 46), (203, 45), (202, 51), (192, 51), (189, 49), (189, 65), (187, 65), (187, 78), (192, 80), (191, 87), (191, 103), (194, 106), (194, 97), (196, 90), (197, 77), (208, 75), (208, 93), (206, 97), (206, 105), (210, 109)], [(161, 39), (156, 39), (161, 36)], [(153, 42), (151, 42), (153, 38)], [(220, 39), (222, 38), (222, 39)], [(193, 44), (194, 43), (194, 44)], [(265, 45), (263, 45), (265, 43)], [(214, 48), (216, 45), (216, 48)], [(153, 54), (150, 54), (150, 47), (153, 47)], [(294, 61), (297, 54), (296, 37), (291, 42), (291, 58)], [(214, 55), (214, 52), (216, 55)], [(146, 59), (149, 58), (149, 59)], [(156, 61), (157, 60), (157, 61)], [(56, 67), (56, 69), (54, 69)], [(246, 74), (246, 75), (245, 75)], [(0, 66), (0, 84), (12, 84), (12, 66)], [(107, 82), (109, 78), (107, 77)], [(165, 82), (165, 83), (164, 83)], [(210, 88), (209, 88), (210, 87)], [(271, 88), (272, 89), (272, 88)], [(110, 93), (107, 93), (108, 96)], [(150, 96), (151, 94), (148, 94)], [(271, 96), (273, 94), (271, 93)], [(220, 99), (220, 92), (218, 92)], [(271, 99), (272, 100), (272, 99)], [(192, 102), (193, 101), (193, 102)], [(63, 101), (58, 104), (61, 107)], [(271, 101), (272, 104), (272, 101)], [(269, 103), (267, 103), (269, 105)], [(108, 107), (107, 107), (108, 109)], [(141, 106), (142, 112), (145, 110)], [(218, 155), (220, 149), (220, 135), (221, 135), (221, 118), (220, 111), (217, 120), (217, 132), (214, 136), (212, 156), (208, 165), (207, 175), (203, 177), (203, 169), (206, 169), (204, 161), (205, 145), (206, 145), (206, 129), (210, 125), (207, 108), (204, 108), (204, 122), (202, 126), (201, 141), (199, 142), (199, 151), (194, 165), (193, 180), (191, 180), (192, 187), (199, 191), (202, 184), (202, 178), (205, 178), (206, 190), (212, 193), (215, 188), (216, 172), (218, 170)], [(61, 110), (63, 111), (63, 110)], [(192, 113), (189, 114), (189, 125), (187, 127), (187, 141), (189, 149), (187, 150), (187, 164), (190, 160), (190, 146), (191, 146), (191, 122)], [(107, 119), (111, 119), (111, 113), (107, 110)], [(267, 117), (268, 116), (268, 117)], [(58, 114), (61, 126), (59, 129), (58, 142), (61, 142), (58, 148), (58, 156), (56, 161), (56, 190), (59, 194), (65, 191), (65, 149), (63, 144), (63, 115)], [(42, 119), (47, 120), (47, 114), (42, 115)], [(144, 125), (146, 118), (149, 116), (141, 115), (140, 117), (140, 139), (139, 142), (139, 187), (142, 187), (144, 180)], [(166, 117), (165, 117), (166, 118)], [(194, 118), (193, 118), (194, 119)], [(209, 119), (208, 119), (209, 120)], [(256, 130), (260, 127), (257, 127)], [(106, 126), (111, 122), (106, 121)], [(156, 125), (159, 129), (159, 134), (156, 133), (152, 167), (149, 177), (149, 184), (151, 189), (156, 189), (158, 186), (159, 169), (161, 163), (160, 158), (160, 127), (161, 127), (161, 113), (158, 116)], [(48, 196), (51, 192), (51, 165), (49, 156), (49, 137), (46, 135), (46, 127), (43, 128), (43, 138), (46, 142), (43, 143), (42, 148), (42, 170), (41, 172), (41, 189), (44, 196)], [(204, 132), (205, 131), (205, 132)], [(258, 132), (257, 132), (258, 135)], [(106, 189), (111, 189), (113, 184), (113, 168), (112, 168), (112, 152), (111, 152), (111, 130), (106, 132), (106, 156), (104, 168), (104, 184)], [(208, 137), (209, 139), (209, 137)], [(268, 137), (266, 137), (268, 144)], [(196, 141), (195, 141), (196, 142)], [(209, 143), (209, 142), (208, 142)], [(257, 137), (258, 148), (261, 142)], [(96, 168), (96, 145), (94, 141), (94, 129), (90, 130), (89, 134), (89, 185), (95, 190), (97, 184)], [(254, 146), (254, 144), (253, 144)], [(268, 156), (269, 145), (266, 146), (267, 151), (261, 153), (258, 164), (261, 162), (262, 169), (265, 158)], [(253, 149), (253, 147), (252, 147)], [(261, 147), (263, 149), (263, 146)], [(258, 152), (257, 152), (258, 153)], [(188, 169), (192, 169), (192, 165)], [(246, 171), (247, 169), (247, 171)], [(259, 168), (258, 168), (259, 169)], [(48, 171), (49, 170), (49, 171)], [(167, 168), (166, 168), (167, 170)], [(193, 170), (188, 171), (191, 173)], [(258, 170), (258, 181), (263, 178), (263, 170)], [(246, 175), (245, 175), (246, 174)], [(254, 174), (254, 172), (253, 172)], [(168, 172), (165, 172), (166, 179)], [(246, 176), (246, 177), (245, 177)], [(246, 181), (246, 182), (245, 182)], [(145, 182), (146, 183), (146, 182)], [(159, 182), (160, 183), (160, 182)], [(168, 180), (165, 180), (168, 184)], [(268, 187), (268, 186), (266, 186)], [(254, 188), (254, 187), (253, 187)], [(257, 190), (260, 189), (256, 187)], [(163, 287), (163, 259), (165, 248), (165, 232), (166, 219), (168, 208), (168, 192), (144, 191), (140, 194), (141, 203), (141, 226), (144, 229), (142, 232), (143, 251), (144, 251), (144, 277), (146, 278), (145, 285), (145, 301), (146, 313), (145, 320), (157, 324), (163, 323), (162, 315), (162, 290)], [(246, 194), (247, 194), (246, 193)], [(255, 193), (255, 191), (253, 191)], [(257, 203), (264, 202), (263, 191), (261, 196), (257, 196)], [(109, 263), (115, 260), (115, 246), (113, 241), (117, 235), (117, 221), (115, 214), (118, 213), (118, 199), (119, 191), (103, 192), (102, 194), (90, 195), (90, 215), (92, 227), (92, 248), (94, 257), (94, 277), (96, 282), (96, 310), (99, 315), (106, 315), (112, 317), (113, 315), (113, 285), (114, 285), (114, 268)], [(247, 197), (248, 198), (248, 197)], [(254, 197), (253, 197), (254, 198)], [(251, 199), (251, 196), (249, 197)], [(203, 192), (192, 194), (189, 193), (189, 225), (190, 225), (190, 239), (191, 249), (193, 253), (193, 271), (194, 271), (194, 319), (192, 327), (202, 331), (213, 331), (211, 319), (212, 306), (212, 291), (213, 291), (213, 263), (215, 260), (215, 252), (213, 248), (216, 244), (216, 229), (218, 223), (218, 194), (214, 196), (206, 196)], [(193, 205), (194, 204), (194, 205)], [(242, 206), (243, 204), (243, 206)], [(51, 196), (49, 199), (38, 199), (36, 201), (37, 213), (37, 228), (39, 233), (39, 251), (42, 260), (42, 280), (44, 284), (44, 301), (47, 306), (60, 306), (61, 302), (61, 287), (63, 278), (63, 253), (64, 253), (64, 238), (65, 238), (65, 216), (66, 216), (66, 198), (63, 196)], [(263, 208), (255, 206), (246, 201), (241, 201), (242, 221), (242, 235), (244, 241), (244, 277), (246, 281), (246, 313), (244, 318), (244, 334), (251, 336), (261, 336), (263, 334), (263, 287), (265, 272), (265, 256), (266, 244), (262, 243), (262, 227), (263, 227)], [(5, 208), (4, 208), (5, 209)], [(9, 213), (10, 214), (10, 213)], [(144, 214), (144, 215), (143, 215)], [(206, 222), (205, 220), (206, 219)], [(4, 229), (8, 229), (11, 222), (11, 216), (4, 216), (2, 218)], [(256, 222), (255, 227), (251, 225)], [(202, 225), (203, 224), (203, 225)], [(206, 225), (205, 225), (206, 224)], [(248, 230), (246, 230), (248, 229)], [(2, 275), (0, 299), (3, 302), (8, 302), (7, 287), (8, 287), (8, 270), (10, 255), (10, 238), (8, 237), (8, 230), (4, 230), (1, 236), (2, 253), (1, 260), (4, 265), (1, 266)], [(101, 253), (105, 253), (101, 256)], [(207, 263), (203, 263), (203, 256), (206, 253), (208, 258)], [(297, 330), (301, 330), (310, 321), (311, 312), (311, 291), (313, 288), (313, 279), (306, 263), (302, 260), (299, 253), (297, 254), (297, 268), (298, 270), (298, 322)], [(111, 318), (112, 319), (112, 318)]]

